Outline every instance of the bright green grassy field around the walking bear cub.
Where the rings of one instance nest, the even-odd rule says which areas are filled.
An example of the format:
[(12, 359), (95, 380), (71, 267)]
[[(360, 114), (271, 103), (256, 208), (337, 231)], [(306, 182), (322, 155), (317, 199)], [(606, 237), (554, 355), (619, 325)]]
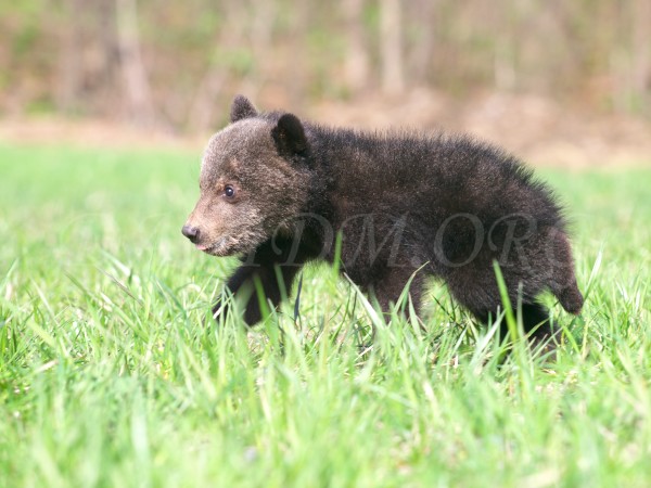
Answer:
[(438, 285), (370, 343), (327, 267), (297, 324), (206, 324), (199, 157), (0, 145), (0, 487), (651, 486), (651, 170), (541, 171), (587, 303), (500, 364)]

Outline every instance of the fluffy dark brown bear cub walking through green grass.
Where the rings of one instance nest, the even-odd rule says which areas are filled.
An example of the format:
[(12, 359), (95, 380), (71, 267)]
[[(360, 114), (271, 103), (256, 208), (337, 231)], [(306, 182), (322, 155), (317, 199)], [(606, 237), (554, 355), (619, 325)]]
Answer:
[(432, 275), (486, 322), (501, 305), (494, 261), (525, 332), (550, 334), (536, 301), (545, 290), (580, 311), (561, 208), (501, 150), (468, 137), (328, 128), (258, 113), (241, 95), (230, 119), (205, 150), (182, 233), (207, 254), (244, 256), (227, 286), (244, 297), (247, 324), (261, 319), (256, 282), (277, 306), (304, 264), (333, 262), (337, 235), (342, 272), (385, 311), (410, 280), (418, 307)]

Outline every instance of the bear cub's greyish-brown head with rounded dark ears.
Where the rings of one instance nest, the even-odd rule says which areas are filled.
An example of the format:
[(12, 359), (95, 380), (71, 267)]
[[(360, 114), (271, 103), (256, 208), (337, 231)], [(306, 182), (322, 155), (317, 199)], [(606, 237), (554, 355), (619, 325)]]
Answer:
[(308, 198), (308, 142), (292, 114), (258, 114), (235, 97), (231, 124), (204, 152), (201, 195), (182, 233), (200, 251), (231, 256), (290, 233)]

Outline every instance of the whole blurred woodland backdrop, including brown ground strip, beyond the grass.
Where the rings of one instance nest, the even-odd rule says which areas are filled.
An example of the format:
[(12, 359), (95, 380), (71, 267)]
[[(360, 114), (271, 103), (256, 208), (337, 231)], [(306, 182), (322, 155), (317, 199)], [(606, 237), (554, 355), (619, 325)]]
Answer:
[(0, 138), (196, 144), (235, 93), (535, 164), (649, 164), (651, 0), (1, 3)]

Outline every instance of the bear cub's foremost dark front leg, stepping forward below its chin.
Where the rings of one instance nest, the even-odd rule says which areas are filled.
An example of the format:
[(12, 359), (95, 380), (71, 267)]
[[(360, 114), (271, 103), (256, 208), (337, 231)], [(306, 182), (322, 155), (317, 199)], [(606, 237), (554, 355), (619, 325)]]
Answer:
[[(233, 295), (233, 299), (241, 301), (244, 322), (247, 325), (254, 325), (263, 319), (256, 281), (261, 285), (264, 294), (261, 299), (270, 301), (272, 307), (278, 307), (283, 295), (290, 293), (301, 266), (302, 264), (289, 259), (282, 249), (279, 253), (278, 247), (267, 242), (235, 270), (226, 286)], [(232, 304), (222, 303), (219, 298), (213, 307), (213, 317), (218, 319), (220, 314), (226, 316)]]

